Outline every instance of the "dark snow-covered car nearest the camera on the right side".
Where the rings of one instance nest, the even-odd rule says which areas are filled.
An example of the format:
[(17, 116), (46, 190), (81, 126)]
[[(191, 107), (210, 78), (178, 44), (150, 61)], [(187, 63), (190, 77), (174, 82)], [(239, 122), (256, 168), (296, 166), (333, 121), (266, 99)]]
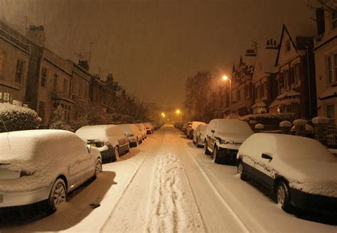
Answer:
[(237, 172), (264, 185), (286, 211), (296, 206), (337, 216), (337, 158), (319, 141), (253, 134), (237, 153)]

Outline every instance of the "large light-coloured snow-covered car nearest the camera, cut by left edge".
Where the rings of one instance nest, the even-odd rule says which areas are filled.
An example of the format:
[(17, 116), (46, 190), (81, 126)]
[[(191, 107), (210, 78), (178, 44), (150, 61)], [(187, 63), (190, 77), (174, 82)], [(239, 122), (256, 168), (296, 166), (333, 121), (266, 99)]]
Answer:
[(45, 201), (55, 210), (70, 191), (102, 171), (97, 148), (70, 131), (0, 134), (0, 208)]

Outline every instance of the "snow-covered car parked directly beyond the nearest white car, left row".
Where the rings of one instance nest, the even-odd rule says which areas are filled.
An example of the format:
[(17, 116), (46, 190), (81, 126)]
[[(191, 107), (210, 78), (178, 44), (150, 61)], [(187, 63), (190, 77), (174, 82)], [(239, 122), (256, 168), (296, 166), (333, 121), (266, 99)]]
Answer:
[(129, 139), (124, 131), (114, 124), (83, 126), (75, 132), (77, 136), (101, 153), (103, 161), (116, 161), (119, 155), (129, 152)]

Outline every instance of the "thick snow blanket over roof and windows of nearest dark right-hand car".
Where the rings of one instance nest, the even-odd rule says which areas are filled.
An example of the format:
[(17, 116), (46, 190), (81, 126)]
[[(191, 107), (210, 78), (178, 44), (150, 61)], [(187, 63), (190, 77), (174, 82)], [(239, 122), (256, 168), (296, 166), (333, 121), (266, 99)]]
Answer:
[(260, 151), (261, 148), (267, 148), (262, 153), (269, 153), (273, 158), (284, 161), (300, 159), (337, 161), (337, 158), (319, 141), (288, 134), (253, 134), (242, 144), (239, 153), (250, 155)]

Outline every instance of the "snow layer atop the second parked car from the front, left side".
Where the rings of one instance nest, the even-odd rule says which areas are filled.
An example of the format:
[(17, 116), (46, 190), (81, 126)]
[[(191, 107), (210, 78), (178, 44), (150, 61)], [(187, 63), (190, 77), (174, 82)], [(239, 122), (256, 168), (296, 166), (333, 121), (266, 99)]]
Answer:
[(124, 136), (124, 133), (115, 124), (101, 124), (96, 126), (83, 126), (75, 132), (81, 139), (106, 141), (107, 136)]

